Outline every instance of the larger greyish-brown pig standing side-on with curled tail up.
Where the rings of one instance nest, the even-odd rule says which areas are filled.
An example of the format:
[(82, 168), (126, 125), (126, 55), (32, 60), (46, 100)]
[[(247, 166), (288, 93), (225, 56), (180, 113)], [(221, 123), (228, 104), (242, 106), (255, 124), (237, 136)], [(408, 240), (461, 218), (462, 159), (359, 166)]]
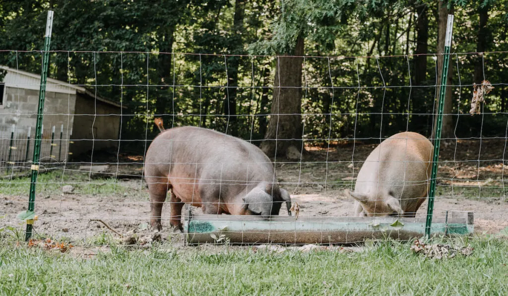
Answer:
[[(164, 130), (162, 121), (157, 126)], [(184, 203), (205, 214), (278, 215), (289, 193), (280, 188), (270, 159), (255, 145), (211, 129), (182, 126), (164, 130), (145, 157), (150, 223), (161, 231), (161, 214), (170, 191), (170, 224), (182, 230)]]

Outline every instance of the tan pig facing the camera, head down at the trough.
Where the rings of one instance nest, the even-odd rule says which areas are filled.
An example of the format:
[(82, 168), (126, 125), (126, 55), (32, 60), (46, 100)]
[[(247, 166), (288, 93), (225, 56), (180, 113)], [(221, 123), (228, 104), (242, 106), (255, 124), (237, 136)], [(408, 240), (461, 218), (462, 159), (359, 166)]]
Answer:
[(355, 192), (357, 216), (415, 217), (427, 198), (432, 168), (432, 143), (406, 131), (379, 144), (358, 173)]

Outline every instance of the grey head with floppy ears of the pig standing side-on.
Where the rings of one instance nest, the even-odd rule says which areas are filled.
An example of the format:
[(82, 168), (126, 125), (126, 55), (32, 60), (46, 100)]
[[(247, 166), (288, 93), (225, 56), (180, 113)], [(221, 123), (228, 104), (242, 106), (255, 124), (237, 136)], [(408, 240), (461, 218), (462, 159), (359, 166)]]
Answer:
[[(264, 218), (278, 215), (282, 203), (286, 204), (288, 214), (291, 216), (291, 196), (288, 191), (282, 188), (273, 188), (271, 185), (262, 183), (252, 190), (243, 198), (246, 209), (253, 215), (261, 215)], [(270, 195), (267, 192), (273, 192)]]

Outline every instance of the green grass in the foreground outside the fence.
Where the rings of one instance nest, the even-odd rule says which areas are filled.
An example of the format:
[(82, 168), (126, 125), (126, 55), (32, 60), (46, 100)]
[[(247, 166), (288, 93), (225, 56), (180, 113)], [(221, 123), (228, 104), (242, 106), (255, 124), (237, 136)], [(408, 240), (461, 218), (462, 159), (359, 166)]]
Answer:
[(508, 294), (508, 241), (468, 244), (471, 256), (438, 260), (396, 242), (353, 253), (113, 247), (91, 259), (0, 243), (0, 294)]

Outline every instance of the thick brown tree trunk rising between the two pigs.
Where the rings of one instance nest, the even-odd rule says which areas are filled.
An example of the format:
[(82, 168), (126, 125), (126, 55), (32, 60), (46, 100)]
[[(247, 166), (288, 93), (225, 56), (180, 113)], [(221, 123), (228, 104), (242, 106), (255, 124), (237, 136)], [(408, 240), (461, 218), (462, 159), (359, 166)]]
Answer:
[(302, 147), (302, 62), (303, 38), (298, 37), (293, 53), (278, 56), (270, 121), (261, 143), (268, 156), (286, 155), (288, 148)]

